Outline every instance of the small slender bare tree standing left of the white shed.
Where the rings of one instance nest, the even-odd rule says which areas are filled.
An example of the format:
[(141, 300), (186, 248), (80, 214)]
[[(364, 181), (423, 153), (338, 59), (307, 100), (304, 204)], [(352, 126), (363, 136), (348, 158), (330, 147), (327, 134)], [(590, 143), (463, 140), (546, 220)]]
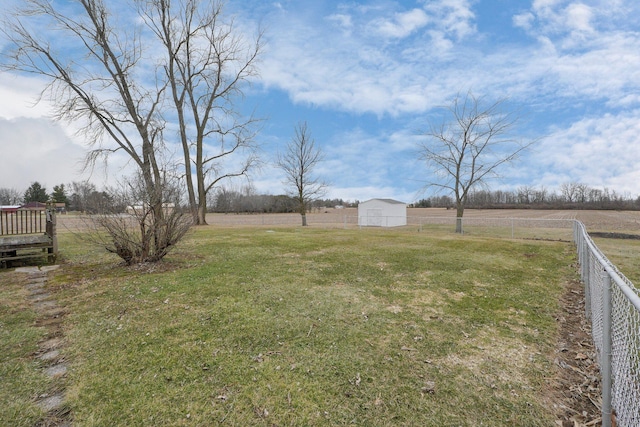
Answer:
[(286, 151), (278, 154), (278, 167), (284, 171), (284, 184), (291, 188), (291, 196), (297, 201), (303, 226), (307, 225), (310, 202), (325, 193), (326, 184), (313, 175), (314, 168), (322, 160), (322, 151), (316, 147), (306, 122), (296, 126), (295, 136)]

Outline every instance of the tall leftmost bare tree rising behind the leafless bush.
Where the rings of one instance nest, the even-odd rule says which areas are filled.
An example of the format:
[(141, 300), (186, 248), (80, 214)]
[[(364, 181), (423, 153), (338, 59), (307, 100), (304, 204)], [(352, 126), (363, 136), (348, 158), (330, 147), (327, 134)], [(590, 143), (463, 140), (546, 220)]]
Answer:
[(136, 257), (143, 262), (157, 261), (175, 244), (166, 239), (163, 210), (169, 82), (149, 66), (157, 61), (133, 15), (110, 10), (103, 0), (24, 0), (1, 31), (13, 44), (4, 68), (47, 78), (42, 96), (49, 96), (55, 118), (82, 127), (90, 145), (86, 166), (116, 151), (136, 166), (149, 206), (148, 232), (140, 236), (148, 240)]

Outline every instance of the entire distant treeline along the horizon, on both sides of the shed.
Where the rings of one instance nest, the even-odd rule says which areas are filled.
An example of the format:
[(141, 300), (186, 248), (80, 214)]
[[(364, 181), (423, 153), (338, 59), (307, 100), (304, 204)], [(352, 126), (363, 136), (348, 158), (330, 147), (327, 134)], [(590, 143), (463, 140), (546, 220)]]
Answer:
[[(38, 190), (38, 191), (35, 191)], [(87, 213), (125, 212), (126, 203), (116, 189), (98, 190), (87, 182), (73, 182), (54, 186), (49, 194), (36, 182), (26, 192), (0, 188), (0, 205), (20, 205), (29, 201), (65, 203), (67, 211)], [(207, 202), (210, 212), (217, 213), (294, 213), (297, 201), (288, 195), (257, 194), (252, 187), (239, 190), (219, 188)], [(321, 212), (335, 207), (357, 207), (359, 201), (318, 199), (309, 211)], [(182, 203), (184, 205), (184, 202)], [(431, 196), (409, 205), (417, 208), (453, 208), (450, 196)], [(560, 186), (558, 191), (544, 187), (519, 187), (513, 191), (479, 190), (469, 194), (466, 208), (471, 209), (611, 209), (640, 210), (640, 197), (631, 197), (608, 188), (598, 189), (579, 183)]]

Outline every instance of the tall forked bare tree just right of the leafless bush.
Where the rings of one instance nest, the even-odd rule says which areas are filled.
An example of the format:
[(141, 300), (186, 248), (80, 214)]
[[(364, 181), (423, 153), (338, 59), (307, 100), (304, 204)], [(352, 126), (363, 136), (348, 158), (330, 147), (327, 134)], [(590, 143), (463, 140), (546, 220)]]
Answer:
[(209, 191), (226, 178), (246, 175), (257, 162), (256, 120), (240, 117), (235, 103), (242, 84), (257, 75), (261, 36), (245, 42), (233, 21), (224, 20), (223, 6), (201, 0), (142, 3), (142, 16), (166, 50), (164, 71), (197, 224), (206, 224)]

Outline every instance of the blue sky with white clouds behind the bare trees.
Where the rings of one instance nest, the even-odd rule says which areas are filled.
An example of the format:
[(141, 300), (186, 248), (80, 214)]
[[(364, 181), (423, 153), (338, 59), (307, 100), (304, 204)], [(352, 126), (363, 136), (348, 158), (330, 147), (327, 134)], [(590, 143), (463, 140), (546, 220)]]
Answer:
[[(491, 189), (579, 182), (640, 195), (637, 0), (229, 0), (226, 12), (247, 37), (264, 31), (260, 76), (238, 105), (263, 119), (258, 193), (287, 191), (274, 160), (305, 121), (326, 197), (429, 197), (419, 144), (442, 107), (472, 92), (506, 98), (514, 137), (537, 141)], [(87, 141), (35, 104), (44, 84), (0, 73), (0, 188), (129, 174), (117, 157), (81, 172)]]

